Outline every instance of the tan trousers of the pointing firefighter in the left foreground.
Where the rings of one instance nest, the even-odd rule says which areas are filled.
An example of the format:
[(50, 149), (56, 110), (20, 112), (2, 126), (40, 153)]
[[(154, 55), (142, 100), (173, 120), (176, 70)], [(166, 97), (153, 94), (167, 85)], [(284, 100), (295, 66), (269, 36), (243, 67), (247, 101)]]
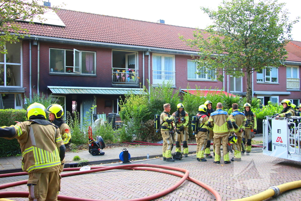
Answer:
[(49, 173), (29, 173), (27, 186), (29, 201), (56, 201), (57, 192), (61, 190), (59, 170)]

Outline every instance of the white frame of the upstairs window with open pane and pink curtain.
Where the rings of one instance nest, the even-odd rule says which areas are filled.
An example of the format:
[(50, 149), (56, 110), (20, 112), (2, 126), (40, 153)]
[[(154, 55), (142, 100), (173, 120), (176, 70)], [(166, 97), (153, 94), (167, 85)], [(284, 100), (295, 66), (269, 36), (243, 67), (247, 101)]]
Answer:
[[(50, 60), (51, 60), (51, 55), (50, 55), (50, 50), (51, 49), (58, 49), (58, 50), (64, 50), (64, 72), (51, 72), (50, 68)], [(55, 74), (81, 74), (81, 75), (96, 75), (96, 52), (93, 51), (85, 51), (85, 50), (77, 50), (73, 49), (73, 66), (66, 66), (66, 51), (72, 51), (70, 49), (60, 49), (60, 48), (49, 48), (49, 72), (50, 73), (55, 73)], [(88, 73), (82, 73), (82, 52), (91, 52), (94, 53), (94, 67), (93, 67), (93, 74), (88, 74)], [(78, 60), (76, 60), (76, 56), (79, 57)], [(79, 62), (79, 65), (76, 63), (76, 61)], [(66, 68), (73, 68), (73, 73), (66, 73)]]

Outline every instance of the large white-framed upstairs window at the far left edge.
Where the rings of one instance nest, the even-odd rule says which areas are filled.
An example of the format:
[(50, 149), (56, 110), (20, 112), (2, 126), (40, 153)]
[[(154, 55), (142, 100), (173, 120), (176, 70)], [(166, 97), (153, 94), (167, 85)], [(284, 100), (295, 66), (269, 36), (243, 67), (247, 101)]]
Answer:
[(0, 53), (0, 86), (22, 86), (21, 43), (7, 43), (7, 54)]

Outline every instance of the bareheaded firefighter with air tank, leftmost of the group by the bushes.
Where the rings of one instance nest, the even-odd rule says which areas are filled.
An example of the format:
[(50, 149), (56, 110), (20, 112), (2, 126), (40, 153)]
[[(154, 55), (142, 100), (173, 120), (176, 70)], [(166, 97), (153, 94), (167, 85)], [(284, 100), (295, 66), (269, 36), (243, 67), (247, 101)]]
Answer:
[[(173, 141), (171, 136), (172, 121), (175, 119), (174, 115), (169, 115), (171, 110), (170, 104), (163, 105), (164, 111), (160, 115), (160, 131), (163, 138), (162, 155), (163, 160), (167, 162), (174, 162), (172, 159), (171, 151), (173, 148)], [(173, 113), (175, 114), (175, 113)]]

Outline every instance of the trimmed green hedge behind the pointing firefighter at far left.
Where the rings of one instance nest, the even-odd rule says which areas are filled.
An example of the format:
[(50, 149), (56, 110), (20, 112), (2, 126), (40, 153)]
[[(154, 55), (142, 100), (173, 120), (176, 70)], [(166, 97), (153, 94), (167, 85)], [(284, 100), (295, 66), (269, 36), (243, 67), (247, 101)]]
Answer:
[[(0, 126), (15, 125), (15, 121), (26, 121), (26, 110), (0, 109)], [(0, 157), (15, 156), (21, 154), (20, 144), (17, 139), (7, 140), (0, 138)]]

